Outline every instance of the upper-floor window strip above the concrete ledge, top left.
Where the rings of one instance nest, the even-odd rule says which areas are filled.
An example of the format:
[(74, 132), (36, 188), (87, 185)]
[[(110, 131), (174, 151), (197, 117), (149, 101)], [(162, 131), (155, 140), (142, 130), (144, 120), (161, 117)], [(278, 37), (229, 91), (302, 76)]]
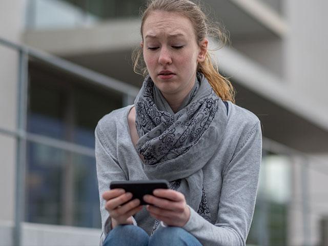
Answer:
[(27, 29), (75, 28), (111, 18), (138, 17), (145, 0), (28, 0)]

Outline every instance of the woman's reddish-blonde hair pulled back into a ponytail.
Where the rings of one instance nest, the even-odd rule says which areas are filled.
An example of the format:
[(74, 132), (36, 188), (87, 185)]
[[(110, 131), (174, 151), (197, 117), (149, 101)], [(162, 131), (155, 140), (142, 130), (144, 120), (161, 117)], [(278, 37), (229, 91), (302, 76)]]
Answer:
[[(189, 0), (152, 0), (149, 1), (146, 9), (141, 15), (140, 33), (142, 36), (142, 28), (145, 20), (151, 12), (166, 11), (181, 14), (191, 20), (196, 34), (197, 44), (206, 37), (218, 37), (222, 46), (229, 41), (228, 35), (220, 28), (218, 24), (209, 23), (208, 18), (201, 10), (200, 6)], [(218, 48), (219, 49), (219, 48)], [(142, 49), (137, 47), (132, 54), (134, 63), (134, 72), (146, 76), (148, 74), (147, 67), (142, 57)], [(222, 100), (229, 100), (235, 103), (235, 90), (230, 80), (222, 76), (217, 65), (213, 65), (209, 51), (206, 52), (206, 59), (198, 63), (197, 71), (204, 74), (208, 79), (215, 93), (222, 98)]]

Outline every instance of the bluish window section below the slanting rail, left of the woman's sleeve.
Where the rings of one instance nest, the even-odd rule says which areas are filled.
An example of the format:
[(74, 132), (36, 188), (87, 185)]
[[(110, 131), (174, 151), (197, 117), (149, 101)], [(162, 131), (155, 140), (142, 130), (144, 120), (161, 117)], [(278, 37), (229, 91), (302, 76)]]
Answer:
[(100, 228), (93, 157), (28, 143), (26, 221)]

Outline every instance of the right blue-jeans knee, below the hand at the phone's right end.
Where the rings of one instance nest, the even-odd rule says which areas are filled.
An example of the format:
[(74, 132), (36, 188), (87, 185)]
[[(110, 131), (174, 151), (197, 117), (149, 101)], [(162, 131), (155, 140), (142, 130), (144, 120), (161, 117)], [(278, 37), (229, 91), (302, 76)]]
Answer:
[(200, 242), (189, 232), (180, 227), (159, 228), (149, 240), (150, 246), (160, 245), (195, 245), (201, 246)]

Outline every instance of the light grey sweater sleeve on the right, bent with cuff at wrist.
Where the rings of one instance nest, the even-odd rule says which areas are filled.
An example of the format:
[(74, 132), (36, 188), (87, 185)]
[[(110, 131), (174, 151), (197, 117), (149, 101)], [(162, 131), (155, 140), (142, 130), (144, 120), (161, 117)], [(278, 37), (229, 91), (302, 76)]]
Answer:
[(245, 245), (250, 230), (262, 153), (260, 122), (240, 139), (236, 151), (223, 170), (222, 189), (215, 224), (192, 208), (183, 227), (203, 245)]

